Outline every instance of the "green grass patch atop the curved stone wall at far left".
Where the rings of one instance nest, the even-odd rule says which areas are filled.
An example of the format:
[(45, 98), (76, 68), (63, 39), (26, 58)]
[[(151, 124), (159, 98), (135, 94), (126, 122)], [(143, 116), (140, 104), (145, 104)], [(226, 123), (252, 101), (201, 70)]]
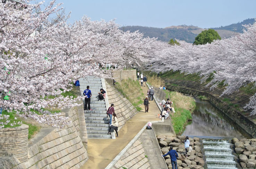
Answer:
[[(2, 111), (2, 116), (3, 116), (3, 115), (9, 115), (9, 116), (10, 116), (10, 117), (8, 118), (8, 120), (10, 120), (10, 122), (9, 122), (7, 125), (5, 125), (4, 128), (19, 127), (19, 126), (21, 126), (21, 125), (18, 124), (18, 121), (22, 121), (22, 120), (20, 120), (19, 118), (17, 118), (17, 119), (15, 120), (15, 114), (16, 114), (15, 112), (8, 112), (7, 110), (3, 110), (3, 111)], [(12, 122), (14, 122), (14, 121), (17, 123), (17, 125), (11, 126), (10, 124), (11, 124)], [(0, 120), (0, 122), (5, 122), (5, 120)], [(28, 125), (28, 139), (31, 139), (32, 136), (34, 136), (34, 135), (40, 130), (40, 127), (39, 127), (39, 126), (35, 126), (35, 125), (32, 125), (32, 124), (28, 124), (28, 123), (23, 122), (23, 121), (22, 121), (22, 123), (25, 124), (25, 125)]]

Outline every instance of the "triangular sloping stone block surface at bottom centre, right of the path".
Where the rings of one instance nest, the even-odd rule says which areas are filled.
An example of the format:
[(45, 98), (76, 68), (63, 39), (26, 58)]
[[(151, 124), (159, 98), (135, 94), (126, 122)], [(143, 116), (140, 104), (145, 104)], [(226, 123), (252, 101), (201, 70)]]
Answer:
[(133, 169), (150, 169), (150, 162), (146, 157), (145, 149), (140, 138), (126, 151), (126, 153), (117, 161), (112, 169), (118, 168), (133, 168)]

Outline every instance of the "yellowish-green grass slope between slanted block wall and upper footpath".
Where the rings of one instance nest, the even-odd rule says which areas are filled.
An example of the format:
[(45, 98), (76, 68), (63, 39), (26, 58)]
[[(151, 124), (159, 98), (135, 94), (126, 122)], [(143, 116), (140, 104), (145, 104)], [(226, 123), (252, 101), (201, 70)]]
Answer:
[(124, 79), (121, 82), (117, 82), (115, 87), (138, 111), (142, 110), (140, 105), (143, 104), (144, 94), (138, 81)]

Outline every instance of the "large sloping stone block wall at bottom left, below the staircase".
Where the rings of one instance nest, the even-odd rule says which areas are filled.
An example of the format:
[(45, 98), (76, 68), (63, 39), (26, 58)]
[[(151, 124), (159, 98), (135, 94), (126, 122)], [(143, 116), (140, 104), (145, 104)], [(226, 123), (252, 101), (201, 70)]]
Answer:
[(73, 123), (65, 129), (55, 128), (42, 138), (39, 133), (31, 142), (36, 143), (28, 148), (27, 162), (14, 168), (78, 169), (88, 160), (87, 151)]

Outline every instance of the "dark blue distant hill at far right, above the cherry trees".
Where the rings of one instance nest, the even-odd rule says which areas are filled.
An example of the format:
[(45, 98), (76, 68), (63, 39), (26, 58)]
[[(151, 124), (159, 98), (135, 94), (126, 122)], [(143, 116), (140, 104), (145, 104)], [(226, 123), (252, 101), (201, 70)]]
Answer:
[(238, 32), (238, 33), (243, 33), (243, 29), (244, 27), (242, 25), (245, 25), (245, 24), (253, 24), (255, 22), (255, 19), (254, 18), (251, 18), (251, 19), (246, 19), (242, 22), (238, 22), (238, 23), (233, 23), (233, 24), (230, 24), (228, 26), (221, 26), (219, 28), (211, 28), (211, 29), (215, 29), (215, 30), (229, 30), (229, 31), (234, 31), (234, 32)]

